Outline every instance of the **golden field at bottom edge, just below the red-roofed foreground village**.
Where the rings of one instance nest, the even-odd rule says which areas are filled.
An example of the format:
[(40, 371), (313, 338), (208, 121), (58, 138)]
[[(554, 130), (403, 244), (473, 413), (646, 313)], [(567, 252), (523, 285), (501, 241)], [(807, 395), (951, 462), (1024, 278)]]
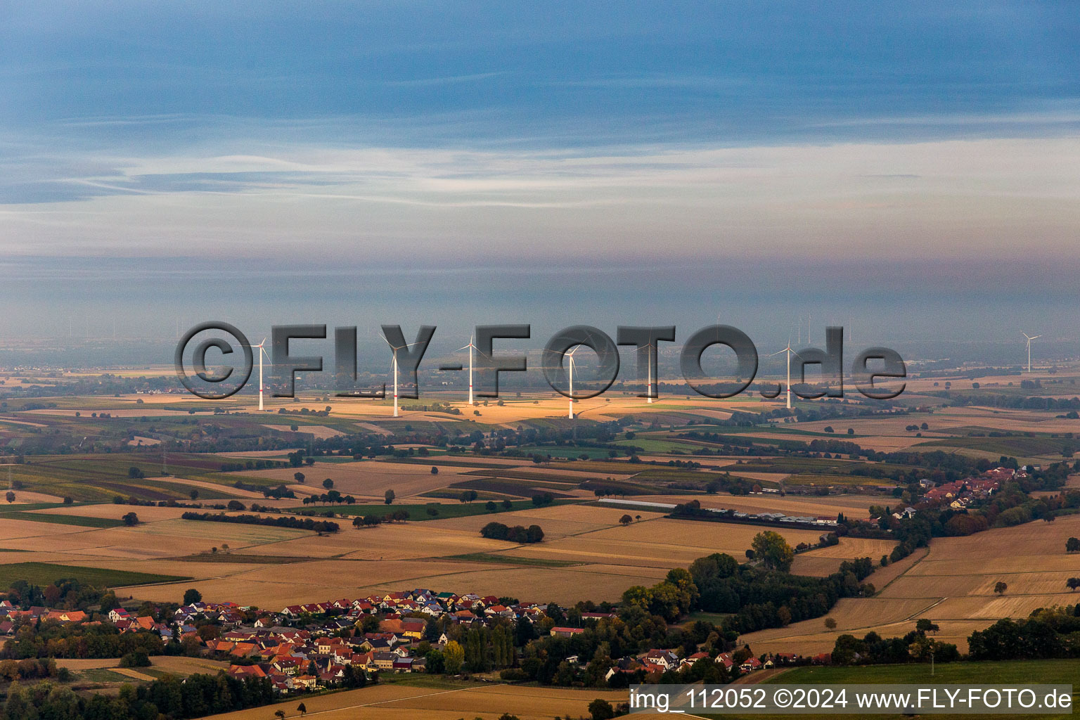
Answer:
[[(305, 698), (308, 715), (326, 720), (456, 720), (483, 717), (495, 720), (504, 712), (522, 720), (551, 720), (565, 712), (589, 717), (589, 703), (597, 697), (612, 705), (625, 703), (626, 691), (530, 688), (504, 684), (470, 684), (420, 688), (405, 684), (380, 684), (330, 695)], [(283, 703), (286, 717), (295, 715), (295, 705)], [(252, 708), (211, 716), (215, 720), (265, 720), (274, 708)], [(272, 715), (272, 712), (271, 712)]]

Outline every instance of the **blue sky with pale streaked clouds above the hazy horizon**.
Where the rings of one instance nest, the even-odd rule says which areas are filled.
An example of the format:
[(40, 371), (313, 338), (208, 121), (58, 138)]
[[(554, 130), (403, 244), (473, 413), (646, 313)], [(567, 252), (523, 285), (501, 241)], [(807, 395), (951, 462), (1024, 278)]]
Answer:
[(1078, 45), (1070, 2), (0, 3), (0, 336), (1080, 350)]

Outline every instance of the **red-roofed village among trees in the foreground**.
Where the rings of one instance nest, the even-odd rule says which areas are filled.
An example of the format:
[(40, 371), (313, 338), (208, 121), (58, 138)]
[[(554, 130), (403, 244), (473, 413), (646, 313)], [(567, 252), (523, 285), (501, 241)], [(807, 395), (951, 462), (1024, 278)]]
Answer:
[[(133, 615), (117, 608), (102, 620), (84, 611), (31, 607), (21, 610), (0, 601), (0, 636), (11, 638), (23, 620), (60, 624), (110, 623), (121, 635), (157, 635), (162, 650), (175, 637), (190, 652), (231, 661), (226, 674), (238, 679), (266, 678), (275, 693), (289, 695), (364, 684), (380, 674), (430, 671), (426, 654), (446, 651), (454, 643), (447, 631), (431, 621), (446, 619), (468, 629), (497, 624), (528, 623), (539, 636), (572, 638), (617, 619), (613, 612), (579, 612), (581, 626), (557, 625), (549, 612), (565, 615), (567, 609), (535, 602), (503, 604), (499, 598), (476, 594), (456, 595), (417, 588), (373, 595), (360, 599), (295, 604), (278, 612), (255, 610), (234, 602), (191, 602), (180, 606), (165, 622), (151, 615)], [(166, 611), (167, 613), (167, 611)], [(159, 615), (160, 616), (160, 615)], [(252, 620), (254, 617), (254, 620)], [(247, 622), (249, 621), (249, 622)], [(204, 628), (214, 628), (207, 633)], [(369, 628), (369, 629), (366, 629)], [(216, 637), (214, 637), (216, 636)], [(565, 658), (572, 666), (583, 663), (577, 655)], [(698, 662), (716, 663), (734, 677), (777, 665), (827, 664), (828, 653), (802, 657), (795, 653), (753, 656), (748, 650), (711, 654), (680, 654), (678, 649), (650, 649), (615, 662), (604, 675), (627, 681), (658, 681), (666, 671), (678, 671)], [(359, 675), (361, 671), (363, 675)], [(612, 683), (616, 684), (616, 683)]]

